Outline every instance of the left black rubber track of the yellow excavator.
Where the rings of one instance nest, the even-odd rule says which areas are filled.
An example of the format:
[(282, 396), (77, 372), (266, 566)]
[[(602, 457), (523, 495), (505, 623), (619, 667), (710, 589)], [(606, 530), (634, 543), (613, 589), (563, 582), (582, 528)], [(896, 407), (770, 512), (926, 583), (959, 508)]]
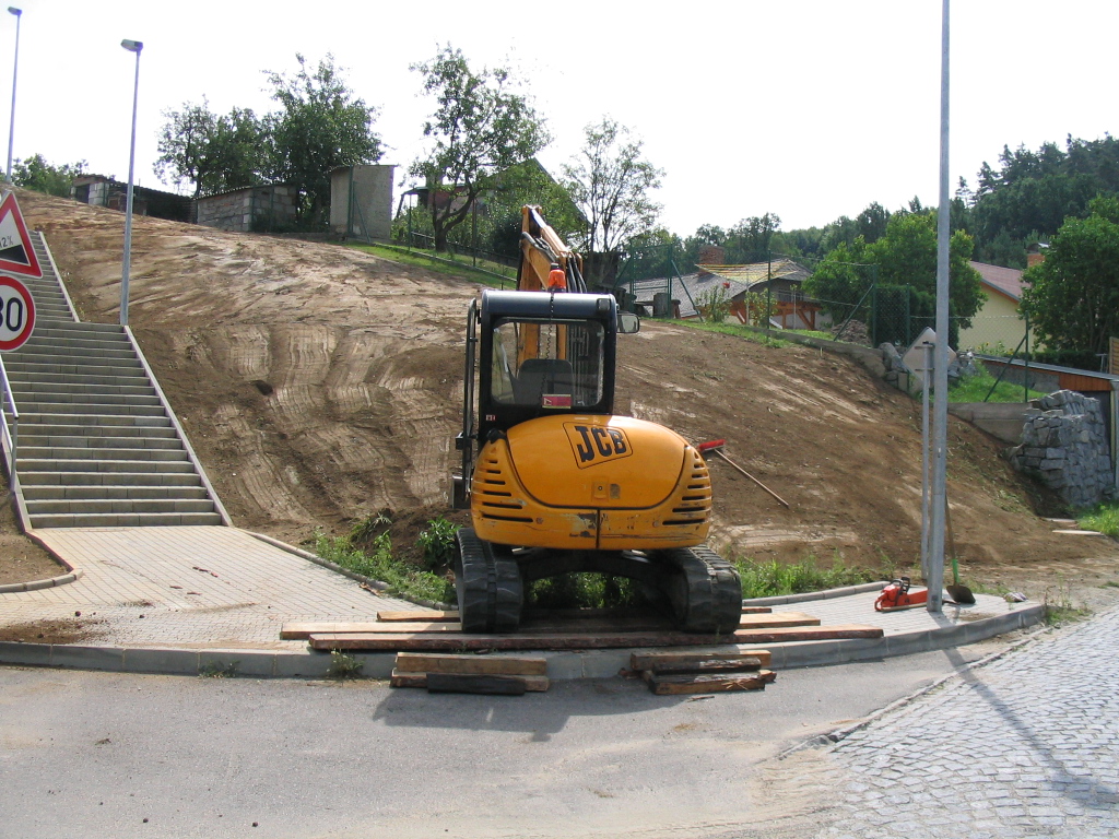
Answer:
[(457, 539), (454, 588), (462, 631), (515, 632), (525, 601), (517, 560), (479, 539), (472, 528), (461, 528)]

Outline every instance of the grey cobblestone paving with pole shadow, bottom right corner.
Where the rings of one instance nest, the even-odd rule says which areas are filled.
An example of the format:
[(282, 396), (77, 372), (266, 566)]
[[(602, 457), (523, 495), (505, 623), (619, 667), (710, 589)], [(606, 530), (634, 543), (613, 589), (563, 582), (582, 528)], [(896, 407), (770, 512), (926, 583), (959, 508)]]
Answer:
[(819, 839), (1119, 836), (1117, 649), (1112, 609), (840, 741)]

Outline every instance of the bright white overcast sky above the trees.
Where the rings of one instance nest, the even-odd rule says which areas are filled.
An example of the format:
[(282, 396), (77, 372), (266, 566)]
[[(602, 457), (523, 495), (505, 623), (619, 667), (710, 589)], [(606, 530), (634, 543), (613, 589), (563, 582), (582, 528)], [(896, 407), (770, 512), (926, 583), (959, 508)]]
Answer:
[[(432, 104), (408, 65), (440, 46), (474, 66), (511, 66), (554, 136), (554, 173), (605, 114), (665, 170), (666, 227), (728, 227), (775, 213), (822, 226), (878, 201), (935, 204), (940, 0), (348, 2), (25, 0), (15, 157), (88, 161), (128, 176), (134, 56), (143, 41), (137, 182), (152, 171), (161, 112), (205, 96), (211, 110), (272, 110), (262, 70), (331, 53), (379, 109), (382, 162), (422, 151)], [(2, 12), (0, 12), (2, 13)], [(952, 188), (1004, 144), (1063, 145), (1113, 129), (1119, 4), (957, 0), (952, 8)], [(8, 115), (16, 18), (0, 18)], [(8, 123), (3, 123), (7, 128)], [(399, 180), (399, 177), (397, 178)]]

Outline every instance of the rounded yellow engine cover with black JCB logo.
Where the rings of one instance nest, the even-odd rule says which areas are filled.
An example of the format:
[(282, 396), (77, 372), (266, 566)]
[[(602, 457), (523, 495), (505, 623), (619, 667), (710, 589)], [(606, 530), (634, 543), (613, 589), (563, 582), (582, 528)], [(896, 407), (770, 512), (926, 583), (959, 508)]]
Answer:
[(500, 545), (627, 550), (699, 545), (711, 477), (675, 432), (624, 416), (567, 414), (487, 443), (471, 489), (479, 538)]

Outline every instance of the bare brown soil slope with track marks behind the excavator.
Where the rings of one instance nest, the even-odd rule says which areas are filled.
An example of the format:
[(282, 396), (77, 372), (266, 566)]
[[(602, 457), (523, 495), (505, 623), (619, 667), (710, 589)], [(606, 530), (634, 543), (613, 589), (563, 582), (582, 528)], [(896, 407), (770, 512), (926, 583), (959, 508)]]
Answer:
[[(122, 214), (19, 199), (83, 320), (115, 322)], [(237, 525), (298, 543), (382, 508), (445, 509), (478, 286), (337, 245), (138, 218), (131, 287), (133, 330)], [(686, 327), (647, 322), (619, 358), (621, 413), (694, 442), (725, 437), (790, 502), (714, 459), (724, 550), (824, 562), (838, 550), (868, 565), (919, 555), (920, 416), (908, 397), (844, 358)], [(956, 421), (950, 434), (970, 578), (1110, 578), (1113, 543), (1054, 535), (996, 441)]]

